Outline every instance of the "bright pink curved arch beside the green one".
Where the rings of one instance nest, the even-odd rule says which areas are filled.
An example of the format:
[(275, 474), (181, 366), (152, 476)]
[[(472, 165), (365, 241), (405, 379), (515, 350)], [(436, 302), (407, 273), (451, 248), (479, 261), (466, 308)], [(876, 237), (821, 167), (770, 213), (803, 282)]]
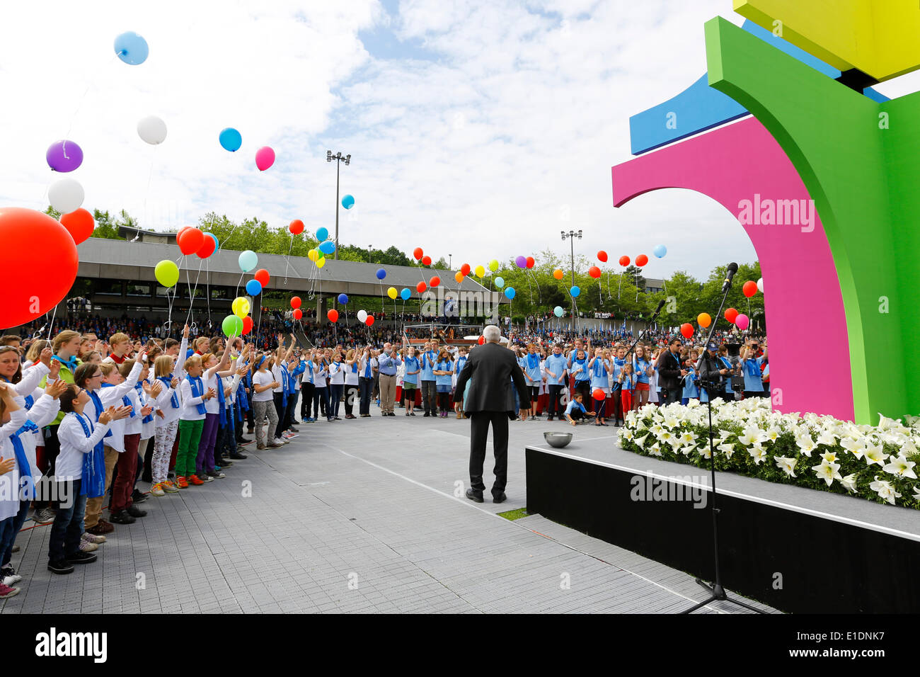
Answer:
[[(686, 188), (739, 216), (742, 200), (810, 200), (782, 148), (751, 117), (612, 170), (614, 206), (661, 188)], [(840, 283), (821, 220), (799, 225), (746, 225), (764, 274), (770, 380), (785, 412), (853, 420), (853, 381)], [(817, 339), (817, 341), (816, 341)], [(819, 346), (817, 352), (813, 346)]]

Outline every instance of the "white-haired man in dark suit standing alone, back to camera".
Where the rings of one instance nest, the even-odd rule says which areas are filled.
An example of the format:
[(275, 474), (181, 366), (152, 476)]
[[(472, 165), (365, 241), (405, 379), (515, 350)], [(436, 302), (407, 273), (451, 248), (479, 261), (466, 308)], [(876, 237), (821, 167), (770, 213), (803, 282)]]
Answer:
[[(482, 503), (486, 485), (482, 483), (482, 465), (486, 460), (486, 438), (489, 424), (492, 425), (492, 448), (495, 453), (495, 484), (492, 484), (492, 498), (501, 503), (508, 481), (508, 419), (514, 413), (512, 379), (517, 388), (520, 402), (529, 403), (530, 393), (518, 366), (514, 353), (500, 344), (501, 332), (490, 324), (482, 330), (486, 343), (470, 353), (466, 366), (457, 377), (454, 402), (463, 403), (466, 382), (465, 413), (470, 417), (469, 479), (471, 487), (466, 497)], [(521, 410), (521, 417), (525, 410)]]

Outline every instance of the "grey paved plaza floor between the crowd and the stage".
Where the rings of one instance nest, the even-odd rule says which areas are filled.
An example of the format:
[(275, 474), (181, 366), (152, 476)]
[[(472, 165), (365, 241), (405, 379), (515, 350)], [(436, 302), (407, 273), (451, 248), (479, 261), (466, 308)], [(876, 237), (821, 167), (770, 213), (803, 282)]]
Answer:
[[(45, 568), (50, 527), (28, 529), (13, 555), (22, 591), (0, 613), (673, 613), (704, 598), (684, 572), (498, 515), (526, 506), (524, 446), (570, 426), (512, 422), (508, 501), (474, 504), (455, 496), (469, 421), (378, 412), (301, 425), (283, 449), (243, 448), (222, 480), (151, 496), (146, 518), (68, 576)], [(575, 434), (615, 441), (612, 426)]]

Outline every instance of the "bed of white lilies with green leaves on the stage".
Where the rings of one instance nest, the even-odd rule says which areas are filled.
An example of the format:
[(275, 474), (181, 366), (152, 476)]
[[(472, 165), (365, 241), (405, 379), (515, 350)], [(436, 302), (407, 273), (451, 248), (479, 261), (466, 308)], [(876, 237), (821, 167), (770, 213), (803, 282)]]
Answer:
[[(768, 399), (712, 403), (716, 469), (879, 503), (920, 508), (920, 418), (857, 426), (833, 416), (780, 414)], [(691, 400), (629, 412), (619, 445), (643, 456), (709, 467), (705, 404)]]

